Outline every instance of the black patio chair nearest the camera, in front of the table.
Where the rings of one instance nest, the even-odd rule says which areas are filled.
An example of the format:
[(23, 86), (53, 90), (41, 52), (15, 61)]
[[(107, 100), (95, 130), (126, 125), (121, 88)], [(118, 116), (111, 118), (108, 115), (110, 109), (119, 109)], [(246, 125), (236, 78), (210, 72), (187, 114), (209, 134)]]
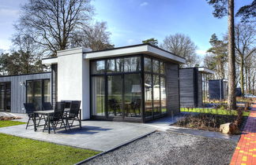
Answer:
[[(54, 132), (57, 129), (58, 124), (61, 124), (59, 128), (62, 128), (62, 124), (63, 124), (66, 130), (66, 123), (64, 122), (64, 118), (63, 118), (64, 108), (65, 108), (64, 102), (56, 102), (55, 112), (50, 116), (50, 125), (54, 130)], [(48, 126), (47, 119), (45, 119), (43, 131), (45, 130), (46, 127), (50, 127)]]

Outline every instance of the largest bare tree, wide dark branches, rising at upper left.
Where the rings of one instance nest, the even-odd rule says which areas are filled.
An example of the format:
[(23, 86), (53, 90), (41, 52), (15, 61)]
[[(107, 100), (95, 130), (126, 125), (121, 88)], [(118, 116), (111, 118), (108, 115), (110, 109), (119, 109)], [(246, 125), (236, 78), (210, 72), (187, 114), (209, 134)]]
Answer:
[(16, 27), (18, 33), (29, 29), (33, 41), (55, 56), (70, 47), (73, 32), (87, 24), (92, 13), (90, 0), (28, 0)]

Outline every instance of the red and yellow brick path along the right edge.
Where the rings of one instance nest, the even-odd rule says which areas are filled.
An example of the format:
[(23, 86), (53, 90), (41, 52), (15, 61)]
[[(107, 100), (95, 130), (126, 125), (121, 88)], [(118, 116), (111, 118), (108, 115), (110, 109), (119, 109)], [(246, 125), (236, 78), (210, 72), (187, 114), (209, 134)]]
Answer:
[(243, 128), (230, 164), (256, 165), (256, 105), (252, 105), (250, 116)]

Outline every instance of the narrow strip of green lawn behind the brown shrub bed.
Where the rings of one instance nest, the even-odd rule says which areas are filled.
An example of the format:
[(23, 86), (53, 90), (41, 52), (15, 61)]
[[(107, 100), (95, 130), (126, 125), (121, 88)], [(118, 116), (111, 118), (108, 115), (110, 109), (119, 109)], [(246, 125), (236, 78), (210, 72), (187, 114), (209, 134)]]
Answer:
[[(232, 110), (228, 111), (223, 108), (215, 109), (215, 108), (180, 108), (181, 112), (198, 112), (198, 113), (211, 113), (216, 115), (237, 115), (237, 112)], [(243, 112), (243, 116), (249, 116), (250, 112)]]

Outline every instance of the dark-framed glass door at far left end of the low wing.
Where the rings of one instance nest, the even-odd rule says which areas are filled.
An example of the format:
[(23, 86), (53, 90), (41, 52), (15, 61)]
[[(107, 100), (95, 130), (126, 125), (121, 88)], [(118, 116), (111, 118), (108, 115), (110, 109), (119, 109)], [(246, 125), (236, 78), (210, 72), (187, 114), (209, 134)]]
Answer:
[(11, 110), (11, 83), (0, 83), (0, 111)]

